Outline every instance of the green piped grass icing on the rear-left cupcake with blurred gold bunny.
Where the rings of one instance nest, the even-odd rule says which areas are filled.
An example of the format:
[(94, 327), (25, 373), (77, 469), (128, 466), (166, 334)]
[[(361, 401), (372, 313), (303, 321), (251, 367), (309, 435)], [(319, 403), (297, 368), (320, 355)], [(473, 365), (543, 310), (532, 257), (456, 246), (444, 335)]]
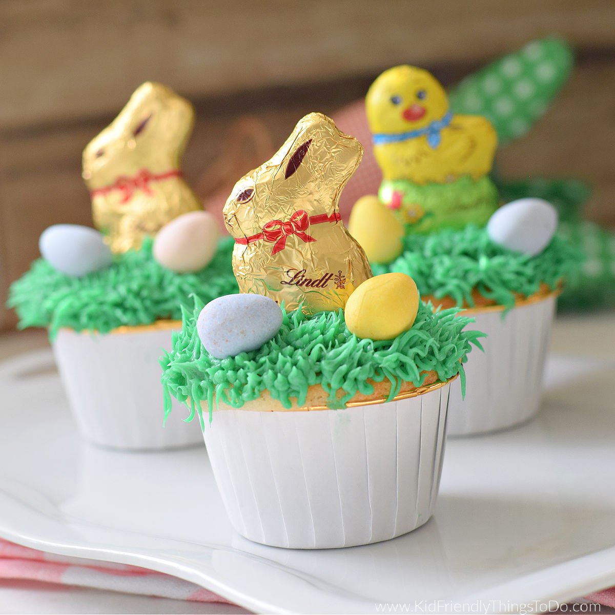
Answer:
[(231, 266), (233, 245), (232, 237), (221, 239), (207, 267), (185, 274), (157, 263), (149, 237), (140, 250), (116, 255), (109, 268), (80, 278), (39, 258), (12, 284), (7, 304), (17, 311), (19, 328), (49, 327), (51, 339), (63, 327), (108, 333), (123, 325), (179, 320), (181, 306), (191, 305), (193, 294), (207, 303), (239, 292)]

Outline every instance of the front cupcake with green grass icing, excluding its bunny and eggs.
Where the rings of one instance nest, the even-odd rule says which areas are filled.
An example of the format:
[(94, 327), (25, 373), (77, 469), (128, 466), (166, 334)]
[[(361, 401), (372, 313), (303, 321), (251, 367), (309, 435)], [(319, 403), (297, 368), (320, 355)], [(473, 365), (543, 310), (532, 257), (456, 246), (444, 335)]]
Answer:
[(271, 340), (217, 359), (197, 334), (200, 305), (162, 359), (165, 405), (169, 412), (173, 397), (205, 415), (237, 532), (325, 549), (387, 540), (429, 520), (451, 382), (477, 335), (463, 331), (469, 319), (421, 303), (409, 330), (376, 341), (353, 335), (341, 310), (282, 310)]

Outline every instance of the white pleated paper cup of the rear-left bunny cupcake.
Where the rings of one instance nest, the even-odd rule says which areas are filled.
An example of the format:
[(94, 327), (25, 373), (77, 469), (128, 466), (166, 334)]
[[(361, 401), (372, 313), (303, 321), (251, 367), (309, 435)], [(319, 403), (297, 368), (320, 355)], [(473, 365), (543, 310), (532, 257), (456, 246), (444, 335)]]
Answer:
[(124, 450), (194, 445), (199, 426), (181, 418), (179, 402), (166, 424), (159, 357), (181, 322), (161, 320), (98, 335), (61, 329), (52, 346), (60, 378), (81, 434)]

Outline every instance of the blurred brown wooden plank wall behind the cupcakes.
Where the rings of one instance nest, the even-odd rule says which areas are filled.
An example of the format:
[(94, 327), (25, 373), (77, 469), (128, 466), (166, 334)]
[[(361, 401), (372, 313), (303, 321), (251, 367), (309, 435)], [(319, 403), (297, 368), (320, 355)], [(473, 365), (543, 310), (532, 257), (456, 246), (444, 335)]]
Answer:
[[(260, 119), (277, 146), (301, 114), (357, 100), (389, 66), (421, 65), (450, 85), (548, 34), (575, 47), (574, 76), (499, 168), (588, 180), (587, 216), (615, 226), (611, 0), (3, 0), (0, 302), (46, 226), (91, 224), (81, 151), (146, 79), (195, 103), (184, 165), (194, 184), (239, 116)], [(14, 322), (0, 308), (0, 328)]]

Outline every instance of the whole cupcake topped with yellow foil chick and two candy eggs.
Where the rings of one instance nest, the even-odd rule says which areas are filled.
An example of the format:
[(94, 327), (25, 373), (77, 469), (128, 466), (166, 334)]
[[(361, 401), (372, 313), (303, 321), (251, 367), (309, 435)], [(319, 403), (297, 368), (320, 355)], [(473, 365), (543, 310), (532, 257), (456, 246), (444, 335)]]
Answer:
[[(523, 66), (517, 57), (505, 64)], [(549, 202), (518, 199), (497, 209), (489, 177), (496, 131), (485, 117), (451, 112), (431, 74), (389, 69), (365, 104), (384, 179), (378, 197), (355, 204), (351, 234), (376, 273), (412, 276), (424, 300), (463, 308), (487, 333), (485, 354), (474, 353), (467, 366), (465, 400), (453, 386), (448, 432), (522, 423), (538, 411), (555, 298), (581, 255), (555, 236)]]

